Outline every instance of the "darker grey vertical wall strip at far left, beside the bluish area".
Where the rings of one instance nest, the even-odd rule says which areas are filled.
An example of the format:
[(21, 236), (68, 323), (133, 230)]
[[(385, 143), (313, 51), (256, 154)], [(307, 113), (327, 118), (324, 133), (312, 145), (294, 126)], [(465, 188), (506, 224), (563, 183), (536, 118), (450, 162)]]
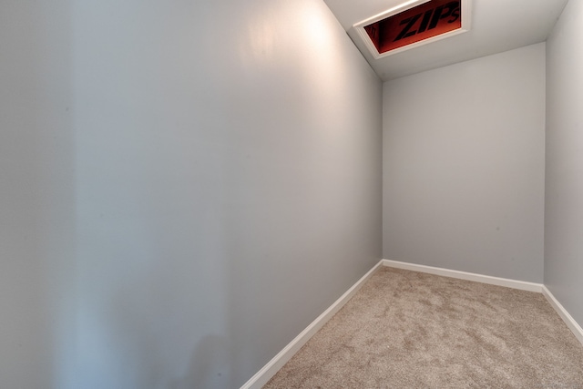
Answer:
[(67, 1), (0, 2), (2, 388), (53, 387), (61, 345), (70, 336), (69, 14)]

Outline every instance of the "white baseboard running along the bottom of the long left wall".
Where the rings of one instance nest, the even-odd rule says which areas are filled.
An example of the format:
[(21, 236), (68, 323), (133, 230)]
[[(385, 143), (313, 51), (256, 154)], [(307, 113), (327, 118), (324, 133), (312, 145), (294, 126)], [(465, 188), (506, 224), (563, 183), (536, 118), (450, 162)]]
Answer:
[(247, 381), (247, 383), (240, 387), (240, 389), (261, 389), (264, 384), (267, 384), (267, 382), (271, 380), (271, 377), (275, 375), (285, 363), (292, 359), (292, 356), (300, 351), (302, 346), (308, 342), (310, 338), (312, 338), (312, 336), (317, 333), (326, 322), (332, 319), (332, 316), (336, 314), (336, 312), (340, 311), (346, 302), (353, 298), (353, 295), (356, 294), (359, 289), (361, 289), (364, 282), (366, 282), (373, 275), (373, 272), (382, 265), (383, 261), (379, 261), (376, 265), (374, 265), (373, 269), (364, 274), (363, 277), (358, 280), (338, 300), (336, 300), (336, 302), (334, 302), (330, 308), (318, 316), (316, 320), (308, 325), (306, 329), (302, 331), (302, 333), (296, 336), (291, 343), (285, 346), (280, 353), (275, 355), (270, 362), (263, 366), (261, 370), (257, 372), (257, 374), (253, 375), (251, 379)]

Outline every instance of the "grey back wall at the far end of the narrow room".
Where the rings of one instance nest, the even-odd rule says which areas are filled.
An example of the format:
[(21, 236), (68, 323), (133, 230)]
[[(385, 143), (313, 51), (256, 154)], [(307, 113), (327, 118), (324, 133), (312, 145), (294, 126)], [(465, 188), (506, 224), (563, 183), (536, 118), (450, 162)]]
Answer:
[(545, 44), (384, 84), (384, 258), (543, 281)]

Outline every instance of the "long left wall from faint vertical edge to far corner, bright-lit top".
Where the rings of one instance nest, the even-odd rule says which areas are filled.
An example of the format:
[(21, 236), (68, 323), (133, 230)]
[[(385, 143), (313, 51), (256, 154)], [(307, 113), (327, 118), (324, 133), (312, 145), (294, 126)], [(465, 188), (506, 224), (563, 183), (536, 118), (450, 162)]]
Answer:
[(320, 0), (77, 2), (63, 387), (240, 387), (381, 258), (382, 84)]

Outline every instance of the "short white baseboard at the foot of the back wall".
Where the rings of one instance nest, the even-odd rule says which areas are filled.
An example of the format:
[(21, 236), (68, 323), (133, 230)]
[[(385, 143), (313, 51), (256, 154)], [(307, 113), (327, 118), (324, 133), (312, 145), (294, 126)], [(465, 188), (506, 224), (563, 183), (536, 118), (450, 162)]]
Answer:
[(519, 289), (528, 292), (543, 292), (543, 284), (535, 282), (524, 282), (509, 280), (506, 278), (492, 277), (489, 275), (476, 274), (465, 271), (451, 271), (443, 268), (435, 268), (433, 266), (416, 265), (414, 263), (383, 260), (384, 266), (389, 266), (397, 269), (404, 269), (407, 271), (421, 271), (429, 274), (441, 275), (444, 277), (457, 278), (460, 280), (489, 283), (491, 285), (506, 286), (506, 288)]

